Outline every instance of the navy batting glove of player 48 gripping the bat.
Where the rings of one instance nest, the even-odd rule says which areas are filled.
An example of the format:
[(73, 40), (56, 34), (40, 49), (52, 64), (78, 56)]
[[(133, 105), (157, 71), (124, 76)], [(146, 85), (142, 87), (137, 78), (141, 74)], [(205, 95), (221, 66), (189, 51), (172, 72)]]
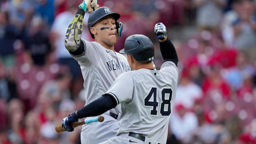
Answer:
[(68, 132), (72, 132), (72, 131), (74, 131), (74, 128), (72, 128), (72, 126), (71, 126), (72, 122), (78, 122), (76, 111), (72, 112), (66, 118), (63, 118), (63, 122), (62, 122), (61, 126), (64, 130), (66, 130)]

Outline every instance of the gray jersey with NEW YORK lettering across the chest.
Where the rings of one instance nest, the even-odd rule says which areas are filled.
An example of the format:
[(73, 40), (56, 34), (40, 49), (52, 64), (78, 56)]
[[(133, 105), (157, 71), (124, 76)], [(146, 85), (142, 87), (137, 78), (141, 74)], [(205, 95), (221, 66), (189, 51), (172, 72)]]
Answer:
[[(73, 56), (80, 64), (84, 78), (86, 104), (96, 100), (104, 94), (114, 80), (122, 73), (130, 70), (124, 55), (106, 49), (98, 42), (81, 39), (85, 46), (85, 53)], [(121, 113), (120, 107), (113, 109)]]

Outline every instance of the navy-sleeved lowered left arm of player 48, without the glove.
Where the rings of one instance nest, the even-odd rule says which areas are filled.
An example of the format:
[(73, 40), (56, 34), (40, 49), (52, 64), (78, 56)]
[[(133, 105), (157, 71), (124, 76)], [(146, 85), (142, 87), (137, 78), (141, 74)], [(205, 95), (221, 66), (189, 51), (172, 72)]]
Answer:
[(116, 100), (110, 95), (103, 95), (102, 97), (94, 100), (90, 104), (84, 106), (76, 112), (78, 118), (89, 116), (98, 116), (104, 112), (116, 107)]

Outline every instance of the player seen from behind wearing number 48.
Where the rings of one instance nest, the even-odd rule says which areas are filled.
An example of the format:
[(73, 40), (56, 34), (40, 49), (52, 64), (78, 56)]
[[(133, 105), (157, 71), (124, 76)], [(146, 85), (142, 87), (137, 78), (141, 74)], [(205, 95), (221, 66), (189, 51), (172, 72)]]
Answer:
[(121, 104), (116, 136), (100, 144), (166, 144), (176, 97), (178, 56), (164, 24), (156, 24), (154, 32), (164, 58), (160, 70), (153, 69), (151, 40), (140, 34), (129, 36), (120, 53), (127, 54), (132, 71), (120, 74), (102, 97), (71, 113), (63, 122), (67, 130), (78, 118), (96, 116)]

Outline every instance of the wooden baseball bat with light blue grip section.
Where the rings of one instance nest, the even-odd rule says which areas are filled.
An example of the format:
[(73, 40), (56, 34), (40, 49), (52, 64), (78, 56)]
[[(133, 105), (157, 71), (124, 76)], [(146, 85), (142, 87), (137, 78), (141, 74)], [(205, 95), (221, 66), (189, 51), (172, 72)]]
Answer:
[[(86, 120), (86, 121), (83, 121), (83, 122), (72, 122), (71, 126), (73, 128), (76, 128), (77, 126), (80, 126), (80, 125), (83, 125), (83, 124), (89, 124), (89, 123), (92, 123), (92, 122), (103, 122), (103, 121), (104, 121), (104, 116), (98, 116), (98, 118), (92, 118), (90, 120)], [(57, 124), (55, 126), (55, 130), (58, 133), (65, 132), (65, 130), (62, 128), (61, 124)]]

